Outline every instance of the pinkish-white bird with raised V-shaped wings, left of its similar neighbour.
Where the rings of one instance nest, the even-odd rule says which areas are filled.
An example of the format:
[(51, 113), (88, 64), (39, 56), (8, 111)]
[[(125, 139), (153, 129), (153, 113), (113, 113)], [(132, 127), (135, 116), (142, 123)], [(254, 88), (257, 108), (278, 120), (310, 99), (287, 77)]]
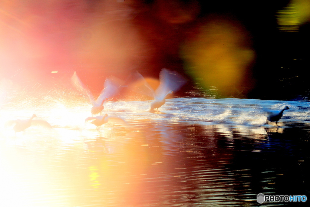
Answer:
[(95, 101), (94, 96), (92, 93), (86, 88), (86, 86), (82, 83), (76, 72), (74, 72), (73, 76), (71, 77), (71, 80), (73, 81), (74, 86), (86, 92), (88, 95), (89, 99), (91, 100), (92, 103), (92, 108), (91, 108), (91, 114), (99, 114), (101, 115), (102, 110), (104, 109), (104, 101), (112, 98), (118, 91), (118, 88), (120, 84), (117, 84), (115, 81), (112, 81), (110, 78), (106, 78), (104, 81), (104, 89), (101, 91), (99, 97)]

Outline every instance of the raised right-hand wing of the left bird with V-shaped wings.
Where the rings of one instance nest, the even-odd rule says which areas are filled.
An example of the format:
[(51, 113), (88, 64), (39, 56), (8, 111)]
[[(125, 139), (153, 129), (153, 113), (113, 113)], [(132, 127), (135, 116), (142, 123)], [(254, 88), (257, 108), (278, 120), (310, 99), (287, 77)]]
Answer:
[(102, 102), (105, 97), (110, 99), (113, 96), (115, 96), (119, 90), (119, 87), (122, 85), (122, 82), (123, 82), (122, 80), (116, 77), (113, 76), (107, 77), (104, 81), (104, 89), (101, 91), (96, 103), (102, 105)]

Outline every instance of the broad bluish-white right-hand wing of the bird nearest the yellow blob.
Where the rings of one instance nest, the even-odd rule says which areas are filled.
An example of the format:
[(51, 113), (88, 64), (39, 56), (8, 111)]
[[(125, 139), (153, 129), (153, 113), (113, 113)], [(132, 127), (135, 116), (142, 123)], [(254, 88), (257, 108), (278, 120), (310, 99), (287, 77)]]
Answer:
[(162, 68), (159, 73), (159, 81), (160, 84), (155, 91), (156, 99), (163, 99), (170, 90), (173, 92), (178, 91), (187, 82), (179, 73), (166, 68)]

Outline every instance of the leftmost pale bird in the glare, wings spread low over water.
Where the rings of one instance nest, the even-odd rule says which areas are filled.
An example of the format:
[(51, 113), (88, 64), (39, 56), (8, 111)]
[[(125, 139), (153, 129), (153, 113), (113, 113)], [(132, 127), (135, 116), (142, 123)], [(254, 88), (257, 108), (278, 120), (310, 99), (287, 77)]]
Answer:
[(24, 131), (25, 129), (29, 128), (31, 125), (40, 125), (46, 128), (51, 128), (52, 126), (47, 122), (47, 121), (43, 121), (43, 120), (33, 120), (34, 117), (37, 117), (35, 114), (32, 115), (32, 117), (30, 119), (26, 119), (26, 120), (11, 120), (7, 122), (7, 125), (13, 125), (13, 130), (16, 132), (21, 132)]

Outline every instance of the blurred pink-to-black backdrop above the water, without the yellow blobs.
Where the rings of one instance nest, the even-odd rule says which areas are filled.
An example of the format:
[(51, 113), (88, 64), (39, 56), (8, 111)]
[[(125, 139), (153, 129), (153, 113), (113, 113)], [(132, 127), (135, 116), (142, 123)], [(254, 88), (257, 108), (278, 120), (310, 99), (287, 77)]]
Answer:
[[(162, 68), (170, 68), (191, 80), (184, 70), (180, 45), (195, 35), (197, 28), (210, 15), (216, 14), (243, 25), (255, 51), (255, 59), (247, 68), (243, 85), (236, 86), (247, 90), (231, 95), (219, 93), (216, 97), (308, 99), (310, 24), (308, 21), (294, 32), (278, 29), (277, 11), (288, 3), (289, 1), (245, 3), (202, 0), (66, 0), (52, 5), (36, 1), (12, 1), (10, 5), (1, 3), (0, 75), (21, 88), (39, 84), (50, 90), (59, 84), (70, 85), (68, 78), (73, 71), (77, 71), (81, 80), (95, 94), (100, 93), (105, 77), (114, 75), (128, 82), (134, 71), (139, 71), (144, 77), (158, 78)], [(113, 11), (118, 13), (114, 15)], [(182, 16), (183, 11), (187, 13)], [(127, 16), (122, 16), (124, 13)], [(115, 42), (120, 48), (126, 45), (128, 54), (133, 54), (129, 58), (126, 56), (126, 64), (114, 67), (119, 59), (107, 57), (117, 56), (118, 49), (115, 49), (115, 55), (105, 45), (98, 45), (102, 47), (102, 51), (93, 50), (93, 46), (85, 47), (87, 39), (95, 36), (94, 33), (89, 35), (85, 31), (91, 30), (89, 25), (106, 21), (107, 17), (102, 17), (104, 15), (110, 15), (112, 22), (118, 21), (116, 17), (121, 19), (121, 23), (116, 23), (115, 27), (107, 23), (108, 27), (102, 30), (118, 31), (120, 28), (115, 34), (107, 33), (117, 37)], [(187, 16), (190, 16), (189, 20), (186, 19)], [(137, 37), (143, 39), (143, 46), (140, 48), (144, 50), (139, 47), (136, 51), (128, 50), (136, 45), (135, 40), (128, 40), (124, 32), (126, 29), (122, 30), (127, 26), (138, 31)], [(104, 34), (100, 35), (102, 36), (96, 39), (98, 44), (104, 39)], [(136, 36), (133, 37), (135, 38)], [(86, 43), (83, 45), (85, 39)], [(115, 42), (112, 41), (109, 46), (113, 47)], [(96, 42), (89, 45), (91, 44), (95, 45)], [(87, 56), (88, 51), (93, 51), (96, 56)], [(97, 63), (94, 63), (93, 57), (98, 60)], [(122, 60), (122, 56), (120, 59)], [(110, 62), (105, 64), (108, 61)], [(186, 95), (185, 92), (194, 88), (195, 84), (190, 81), (178, 94)]]

